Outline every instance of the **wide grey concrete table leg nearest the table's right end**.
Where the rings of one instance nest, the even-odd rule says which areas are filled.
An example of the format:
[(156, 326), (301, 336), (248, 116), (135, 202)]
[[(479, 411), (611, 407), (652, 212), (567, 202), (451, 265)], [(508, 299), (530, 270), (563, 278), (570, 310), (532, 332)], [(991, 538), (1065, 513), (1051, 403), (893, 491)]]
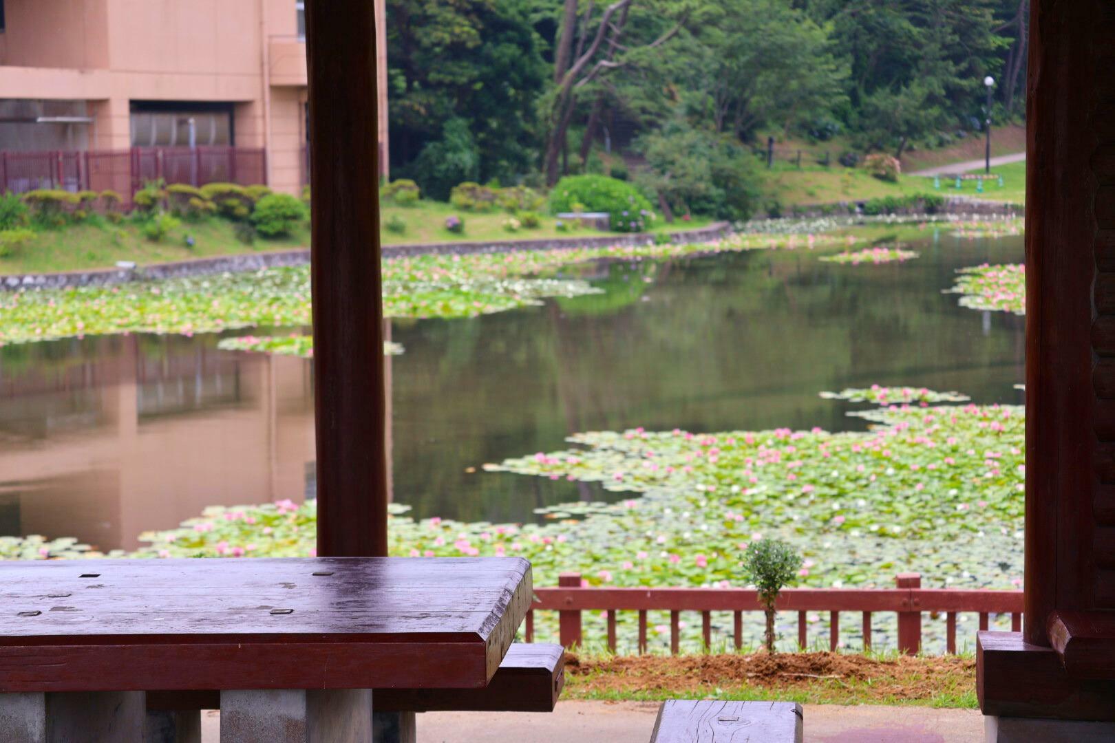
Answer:
[(221, 692), (221, 743), (372, 743), (371, 690)]

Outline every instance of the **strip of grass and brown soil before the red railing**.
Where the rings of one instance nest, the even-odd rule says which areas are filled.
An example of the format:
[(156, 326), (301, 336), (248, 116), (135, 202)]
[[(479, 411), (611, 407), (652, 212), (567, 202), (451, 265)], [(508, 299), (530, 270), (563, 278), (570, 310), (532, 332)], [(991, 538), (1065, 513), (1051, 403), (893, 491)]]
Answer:
[(976, 659), (971, 655), (570, 655), (565, 678), (565, 700), (657, 702), (711, 697), (802, 704), (978, 706)]

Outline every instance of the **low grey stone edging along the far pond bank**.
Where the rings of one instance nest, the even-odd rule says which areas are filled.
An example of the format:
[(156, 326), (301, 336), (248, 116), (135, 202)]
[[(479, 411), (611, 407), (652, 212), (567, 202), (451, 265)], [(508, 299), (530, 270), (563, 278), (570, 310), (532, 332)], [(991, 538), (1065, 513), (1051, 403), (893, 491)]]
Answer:
[[(707, 227), (687, 229), (670, 235), (675, 243), (701, 243), (719, 239), (731, 232), (727, 222), (716, 222)], [(420, 245), (384, 245), (387, 257), (416, 255), (467, 255), (473, 253), (506, 253), (512, 251), (574, 250), (579, 247), (608, 247), (610, 245), (650, 245), (655, 235), (637, 233), (627, 235), (602, 235), (599, 237), (555, 237), (543, 239), (505, 239), (493, 243), (426, 243)], [(306, 265), (310, 262), (310, 248), (271, 251), (268, 253), (241, 253), (209, 258), (153, 263), (134, 268), (97, 268), (89, 271), (67, 271), (62, 273), (40, 273), (0, 276), (0, 291), (22, 289), (62, 289), (66, 286), (107, 286), (132, 281), (203, 276), (240, 271), (260, 271), (279, 266)]]

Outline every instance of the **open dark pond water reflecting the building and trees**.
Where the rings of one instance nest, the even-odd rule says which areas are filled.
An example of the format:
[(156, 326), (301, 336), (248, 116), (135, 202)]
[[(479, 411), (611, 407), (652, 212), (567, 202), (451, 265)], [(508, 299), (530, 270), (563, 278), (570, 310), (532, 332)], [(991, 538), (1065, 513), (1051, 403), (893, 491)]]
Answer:
[[(928, 232), (920, 257), (806, 250), (594, 264), (604, 290), (468, 320), (396, 321), (392, 483), (421, 517), (530, 521), (595, 485), (484, 472), (578, 431), (862, 430), (818, 392), (872, 383), (1021, 403), (1024, 319), (942, 294), (1020, 237)], [(216, 335), (0, 348), (0, 535), (135, 548), (213, 504), (312, 496), (312, 362)]]

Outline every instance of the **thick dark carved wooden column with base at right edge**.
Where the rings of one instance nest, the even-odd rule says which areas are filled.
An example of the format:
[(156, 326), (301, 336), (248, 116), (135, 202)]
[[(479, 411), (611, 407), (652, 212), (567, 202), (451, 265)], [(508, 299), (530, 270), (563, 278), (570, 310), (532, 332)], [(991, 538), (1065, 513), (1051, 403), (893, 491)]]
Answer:
[(1034, 0), (1027, 109), (1026, 623), (977, 652), (1002, 742), (1115, 721), (1115, 3)]

